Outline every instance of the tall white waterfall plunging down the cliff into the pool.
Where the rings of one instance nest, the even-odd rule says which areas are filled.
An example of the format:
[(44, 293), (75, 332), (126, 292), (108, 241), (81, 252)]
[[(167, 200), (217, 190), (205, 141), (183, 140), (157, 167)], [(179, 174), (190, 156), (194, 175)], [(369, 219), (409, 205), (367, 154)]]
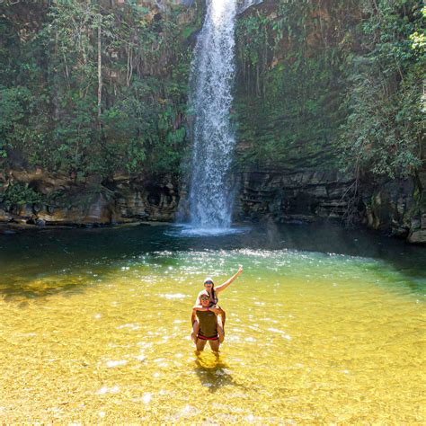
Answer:
[(227, 229), (231, 224), (229, 172), (235, 138), (229, 113), (235, 75), (236, 0), (208, 0), (191, 67), (193, 155), (191, 226)]

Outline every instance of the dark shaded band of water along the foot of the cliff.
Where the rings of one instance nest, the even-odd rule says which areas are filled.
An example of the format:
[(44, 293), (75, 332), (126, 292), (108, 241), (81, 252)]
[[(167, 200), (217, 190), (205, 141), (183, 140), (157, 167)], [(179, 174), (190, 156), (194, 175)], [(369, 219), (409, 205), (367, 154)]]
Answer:
[[(173, 226), (172, 226), (173, 227)], [(130, 259), (149, 253), (161, 262), (167, 251), (233, 250), (297, 250), (318, 253), (398, 260), (401, 255), (426, 259), (426, 248), (405, 244), (401, 240), (377, 235), (365, 228), (346, 229), (330, 223), (277, 225), (271, 221), (245, 232), (231, 235), (178, 237), (171, 226), (132, 226), (129, 228), (46, 229), (15, 235), (0, 235), (0, 262), (45, 260), (60, 262), (102, 262)]]

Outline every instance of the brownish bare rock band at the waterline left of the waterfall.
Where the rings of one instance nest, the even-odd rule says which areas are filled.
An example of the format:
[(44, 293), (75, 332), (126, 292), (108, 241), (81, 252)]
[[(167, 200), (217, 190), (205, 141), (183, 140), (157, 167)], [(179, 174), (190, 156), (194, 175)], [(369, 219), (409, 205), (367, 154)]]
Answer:
[[(171, 176), (130, 179), (119, 176), (110, 182), (80, 184), (55, 182), (51, 177), (20, 175), (21, 183), (37, 186), (44, 201), (0, 206), (0, 223), (33, 226), (104, 226), (147, 221), (173, 221), (177, 207), (176, 182)], [(16, 179), (15, 179), (16, 182)], [(49, 193), (60, 191), (58, 200)]]

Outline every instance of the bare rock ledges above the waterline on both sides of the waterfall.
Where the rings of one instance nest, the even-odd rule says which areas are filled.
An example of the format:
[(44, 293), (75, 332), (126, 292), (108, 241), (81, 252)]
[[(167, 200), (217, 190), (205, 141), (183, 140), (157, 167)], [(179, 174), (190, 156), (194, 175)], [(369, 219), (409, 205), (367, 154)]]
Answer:
[[(235, 176), (234, 218), (278, 223), (332, 219), (426, 244), (424, 180), (426, 175), (417, 181), (389, 180), (370, 186), (336, 170), (248, 171)], [(187, 199), (185, 188), (172, 175), (117, 175), (109, 181), (92, 178), (78, 183), (41, 171), (14, 171), (0, 176), (0, 187), (3, 229), (173, 222), (180, 198)], [(7, 200), (5, 194), (12, 187), (31, 191), (36, 200), (26, 204)], [(182, 202), (181, 210), (184, 206)]]

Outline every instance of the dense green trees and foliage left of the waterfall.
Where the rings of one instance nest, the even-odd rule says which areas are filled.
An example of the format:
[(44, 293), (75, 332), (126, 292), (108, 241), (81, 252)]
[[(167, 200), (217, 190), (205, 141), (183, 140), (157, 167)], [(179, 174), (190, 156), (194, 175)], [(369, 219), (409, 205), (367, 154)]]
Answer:
[[(200, 23), (174, 7), (67, 0), (4, 5), (0, 22), (0, 164), (75, 180), (96, 174), (179, 173), (187, 146), (191, 49)], [(28, 13), (28, 14), (27, 14)], [(154, 16), (154, 13), (157, 15)], [(34, 18), (34, 25), (26, 20)], [(24, 22), (26, 32), (20, 32)], [(102, 102), (98, 106), (101, 31)]]

